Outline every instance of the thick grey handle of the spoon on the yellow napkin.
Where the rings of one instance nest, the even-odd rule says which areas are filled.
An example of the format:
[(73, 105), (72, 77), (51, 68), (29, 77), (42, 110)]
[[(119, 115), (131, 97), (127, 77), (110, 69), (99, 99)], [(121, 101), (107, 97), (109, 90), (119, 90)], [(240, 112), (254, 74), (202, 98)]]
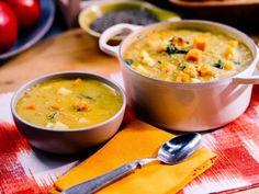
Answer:
[(108, 172), (106, 174), (71, 186), (63, 191), (61, 194), (92, 194), (102, 189), (103, 186), (134, 172), (134, 170), (138, 167), (140, 167), (138, 160), (125, 163), (119, 167), (117, 169)]

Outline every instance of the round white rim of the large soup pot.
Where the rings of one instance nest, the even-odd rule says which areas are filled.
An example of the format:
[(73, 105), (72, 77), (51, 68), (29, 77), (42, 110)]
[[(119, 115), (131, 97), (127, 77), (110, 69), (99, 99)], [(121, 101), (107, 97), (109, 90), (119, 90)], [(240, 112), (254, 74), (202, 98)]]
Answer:
[[(224, 78), (224, 79), (218, 79), (218, 80), (212, 80), (212, 81), (205, 81), (205, 82), (177, 82), (177, 81), (169, 81), (169, 80), (162, 80), (162, 79), (158, 79), (158, 78), (153, 78), (153, 77), (148, 77), (146, 75), (143, 75), (136, 70), (134, 70), (133, 68), (131, 68), (123, 59), (123, 56), (122, 56), (122, 49), (125, 45), (125, 43), (131, 39), (133, 36), (135, 36), (136, 34), (142, 34), (142, 32), (144, 31), (148, 31), (150, 28), (155, 28), (156, 26), (161, 26), (161, 25), (167, 25), (167, 26), (170, 26), (170, 24), (173, 24), (173, 23), (185, 23), (185, 24), (206, 24), (206, 25), (211, 25), (211, 26), (217, 26), (218, 28), (223, 30), (223, 32), (225, 31), (226, 34), (227, 32), (232, 32), (236, 35), (238, 35), (239, 37), (241, 37), (241, 42), (246, 45), (246, 47), (251, 52), (252, 54), (252, 60), (249, 62), (249, 65), (243, 69), (241, 71), (238, 71), (237, 73), (230, 76), (230, 77), (227, 77), (227, 78)], [(251, 45), (251, 46), (249, 46)], [(252, 47), (252, 49), (250, 48)], [(254, 55), (255, 54), (255, 55)], [(212, 21), (206, 21), (206, 20), (181, 20), (181, 21), (165, 21), (165, 22), (159, 22), (159, 23), (155, 23), (155, 24), (150, 24), (148, 26), (143, 26), (143, 28), (140, 28), (139, 31), (137, 32), (133, 32), (132, 34), (130, 34), (126, 38), (123, 39), (123, 42), (119, 45), (119, 52), (117, 52), (117, 55), (116, 57), (119, 58), (120, 60), (120, 64), (125, 67), (126, 69), (128, 69), (131, 72), (133, 72), (134, 75), (137, 75), (137, 76), (140, 76), (142, 78), (144, 79), (147, 79), (149, 81), (154, 81), (154, 82), (162, 82), (165, 84), (174, 84), (174, 85), (185, 85), (185, 87), (201, 87), (201, 85), (214, 85), (214, 84), (224, 84), (225, 82), (230, 82), (233, 80), (233, 78), (241, 75), (241, 73), (245, 73), (246, 71), (249, 70), (249, 68), (251, 68), (252, 66), (256, 66), (257, 62), (259, 61), (259, 48), (257, 47), (257, 45), (255, 44), (255, 42), (248, 36), (246, 35), (245, 33), (243, 33), (241, 31), (233, 27), (233, 26), (229, 26), (229, 25), (226, 25), (226, 24), (222, 24), (222, 23), (218, 23), (218, 22), (212, 22)]]

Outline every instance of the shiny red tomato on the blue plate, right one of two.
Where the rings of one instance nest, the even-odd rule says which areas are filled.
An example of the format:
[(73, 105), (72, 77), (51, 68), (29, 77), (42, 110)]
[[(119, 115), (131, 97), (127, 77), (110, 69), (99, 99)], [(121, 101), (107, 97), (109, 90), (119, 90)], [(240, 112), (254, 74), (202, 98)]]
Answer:
[(38, 0), (7, 0), (14, 11), (20, 30), (32, 28), (41, 18)]

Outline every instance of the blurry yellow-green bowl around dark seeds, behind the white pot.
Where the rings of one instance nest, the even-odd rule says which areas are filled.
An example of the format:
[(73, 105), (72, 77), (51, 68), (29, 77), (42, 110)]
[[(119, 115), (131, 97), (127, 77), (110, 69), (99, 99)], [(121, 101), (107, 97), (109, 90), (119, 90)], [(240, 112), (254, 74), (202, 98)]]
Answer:
[[(79, 25), (83, 31), (91, 34), (92, 36), (100, 37), (101, 34), (99, 32), (90, 28), (91, 23), (108, 12), (128, 10), (128, 9), (145, 10), (145, 11), (154, 14), (158, 19), (158, 21), (179, 21), (179, 20), (181, 20), (181, 18), (177, 13), (160, 9), (160, 8), (155, 7), (155, 5), (147, 3), (147, 2), (116, 1), (116, 2), (100, 3), (100, 4), (87, 7), (79, 14)], [(122, 36), (115, 36), (112, 39), (113, 41), (121, 41), (122, 38), (123, 38)]]

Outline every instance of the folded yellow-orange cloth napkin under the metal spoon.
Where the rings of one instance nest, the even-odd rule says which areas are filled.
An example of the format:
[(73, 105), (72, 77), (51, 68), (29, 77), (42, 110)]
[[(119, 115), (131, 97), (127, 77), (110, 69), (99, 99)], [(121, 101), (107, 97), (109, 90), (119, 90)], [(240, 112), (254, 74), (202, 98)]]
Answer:
[[(117, 133), (93, 156), (58, 179), (49, 193), (58, 193), (75, 184), (106, 173), (136, 159), (156, 157), (159, 147), (173, 137), (140, 121)], [(215, 153), (201, 147), (189, 159), (168, 166), (151, 163), (100, 190), (98, 194), (172, 194), (212, 167)]]

